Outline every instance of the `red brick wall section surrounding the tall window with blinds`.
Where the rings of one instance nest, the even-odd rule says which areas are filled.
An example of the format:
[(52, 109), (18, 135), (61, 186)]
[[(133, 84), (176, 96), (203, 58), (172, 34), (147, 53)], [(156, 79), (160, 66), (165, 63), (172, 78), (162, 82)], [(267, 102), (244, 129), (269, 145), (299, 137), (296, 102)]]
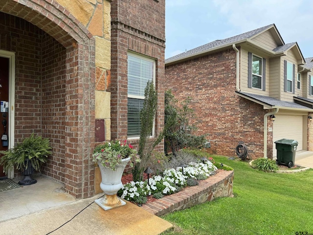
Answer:
[[(127, 53), (156, 60), (156, 135), (164, 123), (165, 1), (113, 0), (111, 3), (111, 139), (127, 139)], [(137, 144), (138, 140), (130, 141)], [(156, 147), (163, 150), (163, 143)]]

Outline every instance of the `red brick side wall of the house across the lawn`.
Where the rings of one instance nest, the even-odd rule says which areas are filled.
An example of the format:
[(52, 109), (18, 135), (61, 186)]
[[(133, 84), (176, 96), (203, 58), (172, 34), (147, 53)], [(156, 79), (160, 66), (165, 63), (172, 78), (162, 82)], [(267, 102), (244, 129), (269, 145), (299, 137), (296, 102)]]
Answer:
[[(261, 105), (242, 98), (236, 91), (236, 52), (228, 49), (165, 68), (165, 87), (177, 99), (193, 98), (199, 128), (196, 134), (209, 134), (209, 152), (236, 156), (239, 141), (248, 146), (253, 158), (263, 157), (264, 115)], [(268, 140), (270, 141), (270, 140)]]

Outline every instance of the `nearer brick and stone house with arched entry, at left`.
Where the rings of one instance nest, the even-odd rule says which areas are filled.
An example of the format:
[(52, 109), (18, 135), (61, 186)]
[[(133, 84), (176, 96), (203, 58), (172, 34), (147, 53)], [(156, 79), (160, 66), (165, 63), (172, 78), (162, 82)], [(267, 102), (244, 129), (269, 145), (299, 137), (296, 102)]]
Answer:
[(8, 101), (0, 111), (9, 137), (0, 149), (33, 132), (49, 138), (42, 173), (76, 198), (94, 195), (95, 144), (128, 137), (128, 53), (153, 63), (164, 109), (164, 12), (164, 0), (0, 1), (0, 100)]

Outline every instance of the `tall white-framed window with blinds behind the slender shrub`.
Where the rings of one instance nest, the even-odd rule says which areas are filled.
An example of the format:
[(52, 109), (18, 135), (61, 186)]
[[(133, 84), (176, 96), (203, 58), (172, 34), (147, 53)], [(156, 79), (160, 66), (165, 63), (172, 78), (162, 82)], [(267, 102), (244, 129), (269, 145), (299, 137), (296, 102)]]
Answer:
[(127, 136), (140, 136), (140, 110), (143, 108), (145, 88), (155, 77), (155, 61), (136, 54), (128, 54), (128, 113)]

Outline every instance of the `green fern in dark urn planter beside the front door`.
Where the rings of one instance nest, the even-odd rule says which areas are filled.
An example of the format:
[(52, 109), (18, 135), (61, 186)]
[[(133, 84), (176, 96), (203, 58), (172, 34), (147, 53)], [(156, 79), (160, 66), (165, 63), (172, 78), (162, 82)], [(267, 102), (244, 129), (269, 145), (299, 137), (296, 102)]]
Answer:
[(14, 148), (1, 150), (0, 154), (3, 156), (0, 158), (0, 164), (3, 165), (5, 173), (13, 167), (21, 170), (24, 179), (19, 182), (20, 185), (32, 185), (37, 183), (37, 180), (30, 176), (34, 170), (40, 171), (41, 165), (47, 162), (48, 155), (51, 154), (50, 149), (49, 139), (31, 134)]

